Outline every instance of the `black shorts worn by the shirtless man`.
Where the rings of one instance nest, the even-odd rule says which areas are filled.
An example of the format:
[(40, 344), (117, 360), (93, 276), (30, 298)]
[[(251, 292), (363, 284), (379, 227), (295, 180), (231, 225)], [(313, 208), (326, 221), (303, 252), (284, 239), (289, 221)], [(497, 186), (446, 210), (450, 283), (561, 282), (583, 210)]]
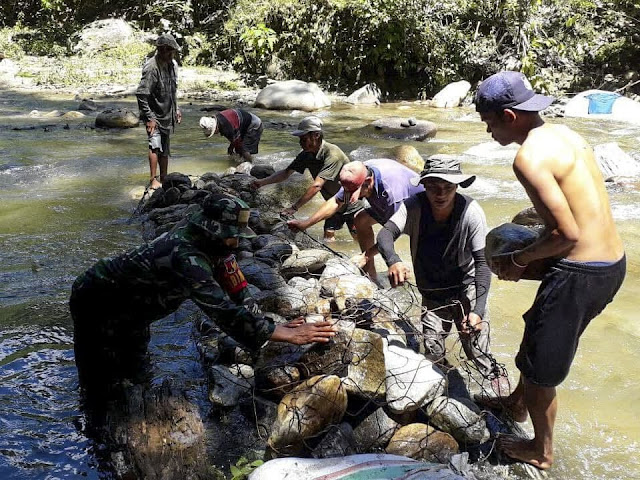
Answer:
[(613, 300), (625, 272), (624, 256), (611, 265), (560, 260), (551, 267), (523, 315), (516, 366), (527, 380), (555, 387), (566, 378), (582, 332)]

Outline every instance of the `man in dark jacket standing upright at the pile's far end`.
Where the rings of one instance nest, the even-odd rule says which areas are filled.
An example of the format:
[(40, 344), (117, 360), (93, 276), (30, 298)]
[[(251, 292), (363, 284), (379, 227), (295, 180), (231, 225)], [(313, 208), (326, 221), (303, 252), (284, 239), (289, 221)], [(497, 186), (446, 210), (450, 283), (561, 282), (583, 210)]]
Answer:
[(142, 68), (142, 79), (136, 90), (140, 118), (149, 139), (149, 187), (152, 189), (162, 186), (169, 168), (169, 136), (175, 124), (182, 121), (177, 97), (178, 64), (173, 59), (179, 50), (171, 34), (160, 35), (156, 40), (156, 54)]

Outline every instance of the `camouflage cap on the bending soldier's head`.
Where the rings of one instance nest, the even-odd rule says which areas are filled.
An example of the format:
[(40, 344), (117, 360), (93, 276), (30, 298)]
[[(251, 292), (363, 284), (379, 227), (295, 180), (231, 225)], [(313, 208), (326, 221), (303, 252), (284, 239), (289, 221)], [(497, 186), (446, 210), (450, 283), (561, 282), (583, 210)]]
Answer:
[(202, 203), (202, 214), (194, 215), (190, 222), (211, 235), (220, 238), (253, 238), (255, 232), (248, 226), (250, 208), (238, 197), (214, 193)]

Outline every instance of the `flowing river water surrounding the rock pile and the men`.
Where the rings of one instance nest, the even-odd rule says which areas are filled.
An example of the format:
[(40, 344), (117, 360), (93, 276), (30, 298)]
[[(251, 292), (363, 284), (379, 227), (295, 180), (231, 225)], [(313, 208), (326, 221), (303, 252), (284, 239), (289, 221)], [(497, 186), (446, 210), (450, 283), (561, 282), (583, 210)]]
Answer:
[[(93, 119), (34, 118), (31, 110), (68, 111), (69, 97), (0, 92), (0, 478), (103, 478), (97, 452), (84, 435), (73, 360), (67, 301), (75, 277), (97, 259), (141, 243), (140, 228), (129, 217), (137, 203), (131, 191), (147, 178), (142, 127), (95, 130)], [(104, 103), (135, 110), (133, 98)], [(184, 122), (172, 137), (170, 171), (199, 175), (233, 165), (224, 140), (205, 139), (198, 128), (200, 104), (183, 102)], [(298, 152), (289, 128), (301, 112), (259, 115), (267, 128), (257, 162), (287, 164)], [(359, 127), (381, 116), (414, 116), (439, 126), (436, 139), (415, 145), (421, 154), (462, 153), (490, 141), (468, 109), (438, 111), (402, 103), (382, 107), (337, 106), (322, 112), (325, 137), (356, 159), (384, 156), (398, 144), (362, 135)], [(273, 123), (271, 123), (271, 122)], [(616, 141), (640, 151), (640, 127), (596, 121), (566, 123), (592, 144)], [(68, 125), (68, 128), (66, 128)], [(26, 129), (36, 127), (35, 129)], [(528, 200), (515, 180), (509, 158), (513, 147), (490, 149), (489, 160), (467, 157), (466, 173), (479, 176), (467, 192), (484, 207), (490, 226), (509, 219)], [(286, 194), (286, 186), (267, 187)], [(554, 479), (640, 478), (640, 200), (637, 184), (610, 192), (614, 216), (626, 244), (628, 275), (605, 312), (585, 332), (568, 379), (558, 389), (560, 410)], [(309, 215), (318, 199), (298, 215)], [(311, 229), (319, 237), (320, 227)], [(408, 259), (408, 242), (400, 240)], [(356, 253), (344, 231), (337, 247)], [(382, 270), (383, 264), (379, 264)], [(522, 334), (521, 314), (533, 300), (535, 282), (494, 278), (489, 301), (492, 343), (497, 358), (517, 379), (514, 354)], [(96, 306), (99, 308), (99, 306)], [(182, 312), (182, 313), (180, 313)], [(152, 354), (157, 378), (201, 379), (191, 341), (188, 309), (154, 327)]]

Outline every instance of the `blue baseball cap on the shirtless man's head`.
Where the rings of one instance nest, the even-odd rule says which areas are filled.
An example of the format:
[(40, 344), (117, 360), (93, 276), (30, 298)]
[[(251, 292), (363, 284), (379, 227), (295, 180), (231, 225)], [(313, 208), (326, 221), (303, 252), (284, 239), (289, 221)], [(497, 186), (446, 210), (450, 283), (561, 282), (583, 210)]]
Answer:
[(539, 112), (555, 100), (533, 91), (529, 80), (520, 72), (498, 72), (478, 87), (476, 112), (500, 112), (506, 108)]

